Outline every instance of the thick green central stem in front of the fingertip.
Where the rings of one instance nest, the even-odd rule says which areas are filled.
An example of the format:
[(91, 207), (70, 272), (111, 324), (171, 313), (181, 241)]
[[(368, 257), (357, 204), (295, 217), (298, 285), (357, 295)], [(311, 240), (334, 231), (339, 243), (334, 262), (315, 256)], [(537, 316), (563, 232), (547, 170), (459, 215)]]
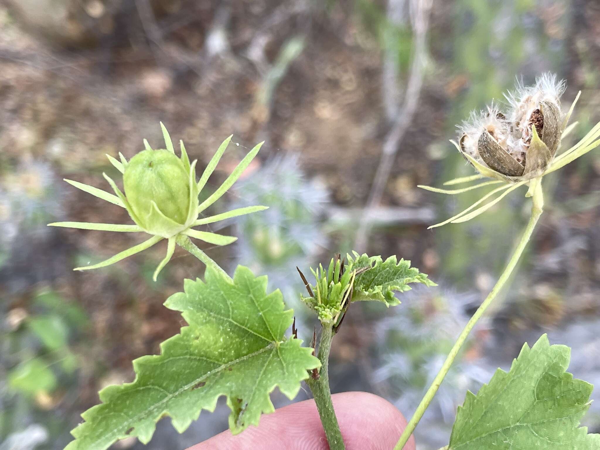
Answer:
[(335, 417), (334, 404), (331, 401), (331, 391), (329, 390), (329, 350), (331, 350), (331, 340), (333, 338), (333, 327), (323, 325), (321, 339), (319, 341), (319, 361), (321, 369), (319, 378), (310, 377), (307, 381), (308, 387), (313, 392), (314, 403), (317, 404), (319, 417), (329, 442), (330, 450), (344, 450), (344, 440), (341, 437), (340, 425)]

